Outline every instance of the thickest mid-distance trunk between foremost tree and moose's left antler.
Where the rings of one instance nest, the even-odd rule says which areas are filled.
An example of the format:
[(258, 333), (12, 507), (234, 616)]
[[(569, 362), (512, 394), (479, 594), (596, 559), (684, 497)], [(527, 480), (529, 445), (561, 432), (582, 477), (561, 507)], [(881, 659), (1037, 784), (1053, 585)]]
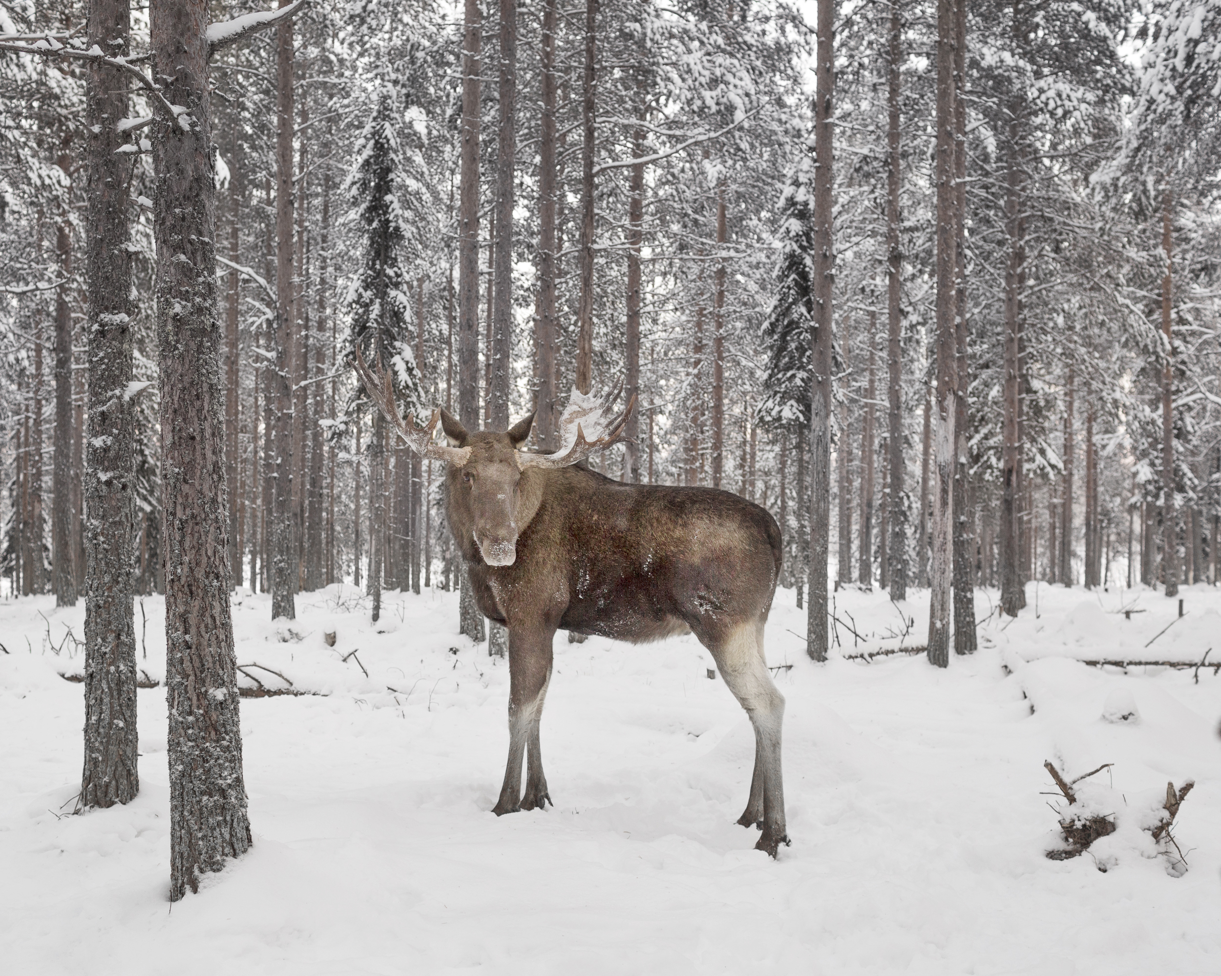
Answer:
[[(283, 6), (281, 0), (281, 6)], [(271, 518), (271, 616), (295, 620), (297, 560), (293, 544), (293, 23), (276, 28), (276, 326), (275, 368), (267, 386), (275, 399), (275, 493)]]

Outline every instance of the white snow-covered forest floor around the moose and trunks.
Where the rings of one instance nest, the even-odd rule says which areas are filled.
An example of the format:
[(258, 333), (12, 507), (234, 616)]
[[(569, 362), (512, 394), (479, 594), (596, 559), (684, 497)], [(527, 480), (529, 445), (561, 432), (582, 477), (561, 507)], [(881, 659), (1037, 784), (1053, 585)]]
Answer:
[[(1071, 660), (1199, 660), (1212, 642), (1221, 660), (1221, 592), (1184, 589), (1182, 620), (1151, 590), (1028, 594), (944, 671), (842, 656), (923, 643), (927, 593), (901, 612), (884, 593), (836, 593), (825, 665), (778, 594), (767, 639), (770, 664), (792, 665), (778, 672), (792, 845), (772, 861), (734, 825), (750, 726), (694, 638), (559, 634), (542, 725), (557, 806), (497, 819), (508, 670), (457, 634), (452, 594), (388, 594), (372, 625), (332, 587), (299, 598), (289, 628), (247, 593), (238, 662), (315, 694), (243, 700), (254, 849), (172, 909), (164, 688), (139, 692), (139, 798), (65, 815), (82, 686), (61, 675), (82, 669), (67, 631), (81, 637), (83, 605), (2, 603), (0, 970), (1221, 972), (1221, 677)], [(143, 620), (137, 606), (140, 666), (160, 681), (160, 599)], [(1138, 721), (1103, 720), (1133, 703)], [(1114, 811), (1096, 858), (1044, 856), (1045, 759), (1070, 777), (1115, 764), (1088, 782), (1136, 813)], [(1136, 820), (1189, 777), (1175, 827), (1189, 870), (1175, 877)]]

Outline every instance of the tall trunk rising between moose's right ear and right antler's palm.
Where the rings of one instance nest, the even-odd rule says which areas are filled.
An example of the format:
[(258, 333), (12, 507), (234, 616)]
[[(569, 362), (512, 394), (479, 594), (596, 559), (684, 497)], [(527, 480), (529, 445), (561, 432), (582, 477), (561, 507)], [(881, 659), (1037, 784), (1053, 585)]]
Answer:
[(538, 350), (535, 429), (538, 432), (538, 447), (543, 451), (553, 451), (559, 448), (559, 444), (556, 443), (556, 428), (559, 423), (559, 405), (556, 401), (558, 392), (556, 354), (559, 345), (559, 323), (556, 320), (556, 204), (559, 193), (556, 178), (556, 32), (558, 26), (559, 0), (543, 0), (542, 134), (538, 142), (538, 317), (535, 320), (535, 346)]

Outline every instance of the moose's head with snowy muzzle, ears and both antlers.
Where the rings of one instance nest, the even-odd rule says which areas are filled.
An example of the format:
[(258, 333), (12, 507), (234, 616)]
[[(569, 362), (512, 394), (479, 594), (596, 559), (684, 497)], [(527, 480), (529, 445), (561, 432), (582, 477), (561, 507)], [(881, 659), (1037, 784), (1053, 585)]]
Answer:
[[(377, 407), (421, 458), (449, 465), (449, 521), (455, 533), (469, 523), (471, 537), (488, 566), (512, 566), (516, 561), (518, 534), (530, 523), (542, 497), (542, 484), (532, 472), (559, 468), (582, 461), (621, 439), (628, 417), (636, 405), (615, 412), (623, 381), (606, 394), (582, 394), (573, 388), (559, 420), (560, 449), (553, 454), (521, 450), (534, 426), (534, 414), (508, 431), (469, 432), (444, 410), (433, 410), (424, 427), (409, 414), (403, 420), (394, 400), (389, 373), (379, 377), (360, 350), (357, 371)], [(380, 368), (380, 364), (379, 364)], [(433, 440), (437, 423), (444, 444)]]

